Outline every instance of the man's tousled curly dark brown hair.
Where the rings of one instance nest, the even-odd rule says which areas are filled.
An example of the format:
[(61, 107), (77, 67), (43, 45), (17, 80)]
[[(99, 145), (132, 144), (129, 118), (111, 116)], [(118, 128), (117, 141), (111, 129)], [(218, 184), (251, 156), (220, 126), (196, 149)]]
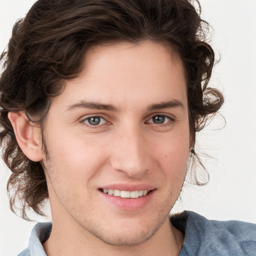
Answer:
[[(28, 208), (43, 215), (41, 204), (48, 191), (43, 166), (24, 155), (7, 114), (25, 111), (29, 121), (43, 129), (52, 97), (61, 93), (64, 80), (79, 74), (81, 56), (91, 45), (151, 40), (174, 49), (187, 77), (194, 145), (195, 132), (218, 111), (223, 96), (207, 87), (214, 52), (206, 42), (208, 23), (200, 18), (199, 2), (193, 2), (197, 9), (190, 0), (38, 0), (14, 24), (0, 57), (0, 143), (12, 171), (7, 183), (12, 211), (19, 201), (23, 218)], [(198, 158), (194, 149), (191, 153)], [(196, 176), (194, 180), (199, 183)]]

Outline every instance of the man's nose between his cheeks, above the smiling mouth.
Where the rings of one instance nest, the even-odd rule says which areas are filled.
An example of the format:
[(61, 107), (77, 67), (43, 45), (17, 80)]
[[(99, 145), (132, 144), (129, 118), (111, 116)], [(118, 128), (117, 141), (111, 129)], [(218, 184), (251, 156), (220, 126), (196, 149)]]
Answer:
[(129, 177), (140, 177), (152, 166), (150, 146), (138, 127), (126, 127), (112, 142), (111, 166)]

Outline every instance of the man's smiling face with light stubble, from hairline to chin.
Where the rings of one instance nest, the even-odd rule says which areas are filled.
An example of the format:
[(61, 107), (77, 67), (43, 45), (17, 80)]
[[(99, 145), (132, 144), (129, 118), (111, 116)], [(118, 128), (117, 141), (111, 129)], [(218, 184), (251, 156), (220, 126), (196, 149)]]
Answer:
[(44, 138), (53, 223), (108, 244), (146, 241), (169, 228), (186, 172), (181, 61), (153, 42), (89, 49), (53, 99)]

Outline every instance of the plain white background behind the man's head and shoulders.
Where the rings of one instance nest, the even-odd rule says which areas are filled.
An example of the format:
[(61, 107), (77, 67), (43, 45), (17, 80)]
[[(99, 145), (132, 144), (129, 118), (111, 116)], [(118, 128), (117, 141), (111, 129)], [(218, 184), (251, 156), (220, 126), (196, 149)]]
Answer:
[[(34, 0), (0, 0), (0, 52), (15, 20)], [(214, 28), (211, 45), (221, 61), (212, 85), (225, 95), (221, 114), (198, 134), (210, 181), (204, 187), (185, 187), (174, 211), (196, 211), (207, 218), (256, 223), (256, 0), (201, 0), (202, 17)], [(27, 247), (35, 222), (14, 215), (8, 207), (6, 180), (10, 172), (0, 162), (0, 256)], [(36, 218), (39, 221), (45, 219)]]

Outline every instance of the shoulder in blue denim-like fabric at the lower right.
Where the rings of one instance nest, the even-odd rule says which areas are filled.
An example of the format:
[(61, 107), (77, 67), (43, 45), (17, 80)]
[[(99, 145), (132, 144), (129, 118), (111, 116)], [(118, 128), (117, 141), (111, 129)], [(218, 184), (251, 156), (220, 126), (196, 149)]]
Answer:
[(175, 214), (171, 222), (185, 234), (182, 249), (188, 255), (256, 254), (256, 224), (208, 220), (191, 211)]

